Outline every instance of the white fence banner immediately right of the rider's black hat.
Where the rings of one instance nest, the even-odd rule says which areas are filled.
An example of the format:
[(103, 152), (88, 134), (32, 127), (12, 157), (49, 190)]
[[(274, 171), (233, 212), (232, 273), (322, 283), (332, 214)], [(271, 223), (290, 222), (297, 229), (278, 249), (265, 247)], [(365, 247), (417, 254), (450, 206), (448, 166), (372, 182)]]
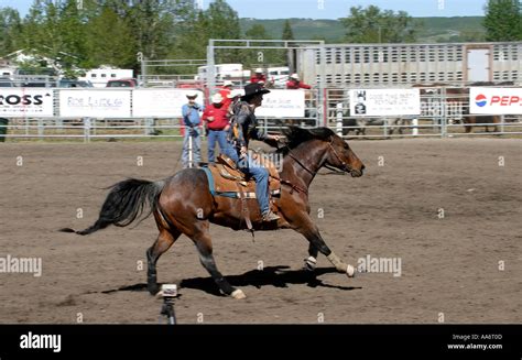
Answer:
[(304, 118), (304, 90), (270, 90), (263, 96), (263, 103), (255, 109), (258, 118)]

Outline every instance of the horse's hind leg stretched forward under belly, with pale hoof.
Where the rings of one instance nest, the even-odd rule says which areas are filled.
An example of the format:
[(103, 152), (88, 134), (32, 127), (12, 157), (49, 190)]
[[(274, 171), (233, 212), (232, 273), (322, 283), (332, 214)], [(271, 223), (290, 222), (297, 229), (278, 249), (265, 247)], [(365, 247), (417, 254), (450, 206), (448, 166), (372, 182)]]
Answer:
[(219, 290), (226, 295), (232, 296), (233, 298), (247, 297), (241, 290), (230, 285), (230, 283), (217, 269), (216, 261), (214, 260), (213, 255), (213, 242), (208, 232), (208, 221), (199, 221), (196, 225), (196, 232), (189, 237), (196, 244), (202, 265), (208, 271), (210, 276), (213, 276)]

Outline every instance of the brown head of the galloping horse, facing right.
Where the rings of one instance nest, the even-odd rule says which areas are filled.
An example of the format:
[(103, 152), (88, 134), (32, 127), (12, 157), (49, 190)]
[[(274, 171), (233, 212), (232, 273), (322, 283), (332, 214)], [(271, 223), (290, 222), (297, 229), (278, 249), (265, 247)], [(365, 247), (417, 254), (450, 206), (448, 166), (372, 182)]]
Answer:
[(348, 143), (333, 133), (327, 140), (326, 165), (350, 173), (354, 177), (362, 176), (365, 164), (357, 157)]

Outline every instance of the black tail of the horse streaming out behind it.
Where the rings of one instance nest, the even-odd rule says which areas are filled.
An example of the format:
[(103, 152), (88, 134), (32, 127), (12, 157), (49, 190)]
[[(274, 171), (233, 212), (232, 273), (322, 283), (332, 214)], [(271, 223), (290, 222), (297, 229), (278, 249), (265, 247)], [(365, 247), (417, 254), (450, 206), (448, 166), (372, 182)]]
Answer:
[(109, 187), (111, 190), (105, 199), (104, 206), (96, 222), (85, 230), (76, 231), (64, 228), (59, 231), (89, 234), (109, 225), (126, 227), (135, 220), (148, 205), (150, 211), (142, 218), (148, 218), (157, 207), (157, 198), (165, 185), (164, 181), (149, 182), (129, 178)]

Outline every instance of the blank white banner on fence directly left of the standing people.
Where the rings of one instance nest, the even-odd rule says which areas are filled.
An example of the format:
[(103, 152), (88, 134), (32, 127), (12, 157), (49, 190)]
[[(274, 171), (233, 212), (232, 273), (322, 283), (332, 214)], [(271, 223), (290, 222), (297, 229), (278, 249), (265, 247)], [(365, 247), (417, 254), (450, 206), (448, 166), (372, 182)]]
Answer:
[(132, 94), (132, 116), (182, 117), (182, 106), (187, 103), (186, 95), (197, 94), (196, 102), (204, 105), (203, 91), (181, 89), (137, 89)]

